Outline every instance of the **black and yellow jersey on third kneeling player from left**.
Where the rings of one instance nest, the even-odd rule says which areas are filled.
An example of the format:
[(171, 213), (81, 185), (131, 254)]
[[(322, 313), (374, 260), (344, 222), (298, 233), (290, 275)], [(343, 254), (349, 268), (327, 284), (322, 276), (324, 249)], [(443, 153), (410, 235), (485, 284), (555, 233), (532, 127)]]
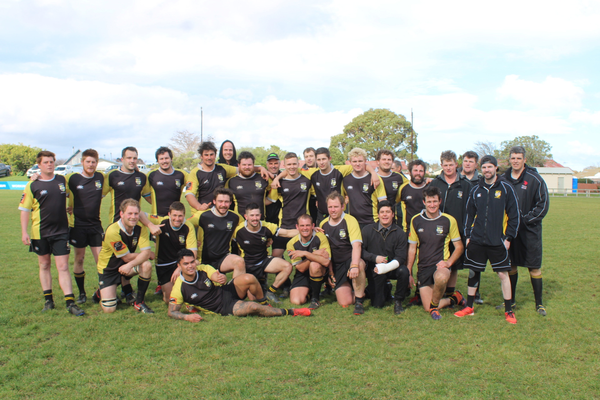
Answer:
[(215, 207), (198, 211), (188, 219), (198, 228), (198, 242), (202, 243), (198, 255), (202, 263), (209, 263), (229, 254), (233, 231), (243, 220), (241, 215), (232, 210), (221, 216), (215, 211)]

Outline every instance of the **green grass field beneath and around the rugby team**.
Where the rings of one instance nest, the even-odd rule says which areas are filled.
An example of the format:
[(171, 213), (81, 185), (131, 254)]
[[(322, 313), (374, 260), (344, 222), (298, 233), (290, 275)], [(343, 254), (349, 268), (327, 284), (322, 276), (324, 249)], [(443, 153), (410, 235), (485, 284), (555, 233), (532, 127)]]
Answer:
[[(57, 308), (42, 314), (37, 257), (20, 241), (19, 199), (19, 191), (0, 192), (2, 399), (600, 398), (598, 199), (551, 200), (542, 269), (548, 316), (536, 314), (520, 270), (517, 325), (494, 309), (502, 295), (491, 270), (476, 314), (443, 310), (441, 321), (422, 308), (395, 316), (368, 302), (355, 316), (329, 299), (308, 318), (208, 315), (192, 324), (171, 320), (152, 293), (154, 315), (127, 306), (104, 315), (89, 301), (86, 316), (74, 317), (58, 307), (55, 271)], [(89, 251), (85, 269), (91, 297)]]

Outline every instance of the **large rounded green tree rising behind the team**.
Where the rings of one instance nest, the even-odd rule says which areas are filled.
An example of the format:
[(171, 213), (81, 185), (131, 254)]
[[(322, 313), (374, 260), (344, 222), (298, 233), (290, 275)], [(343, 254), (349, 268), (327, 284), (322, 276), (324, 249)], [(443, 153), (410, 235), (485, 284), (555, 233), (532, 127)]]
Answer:
[[(377, 152), (388, 149), (397, 158), (416, 157), (416, 132), (412, 132), (410, 122), (403, 115), (388, 109), (368, 109), (352, 119), (344, 127), (344, 133), (331, 137), (331, 148), (337, 148), (344, 158), (355, 147), (364, 149), (368, 157), (374, 159)], [(333, 157), (332, 153), (332, 157)]]

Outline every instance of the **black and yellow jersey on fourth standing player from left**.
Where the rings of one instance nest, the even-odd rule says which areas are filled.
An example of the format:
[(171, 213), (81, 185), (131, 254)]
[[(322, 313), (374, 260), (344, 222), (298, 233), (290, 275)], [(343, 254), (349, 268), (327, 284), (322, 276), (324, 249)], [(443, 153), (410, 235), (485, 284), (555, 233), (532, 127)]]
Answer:
[(160, 168), (148, 173), (148, 185), (152, 198), (152, 215), (165, 216), (169, 213), (169, 206), (173, 201), (181, 200), (181, 193), (185, 191), (185, 182), (188, 174), (184, 170), (173, 169), (170, 174), (164, 173)]

